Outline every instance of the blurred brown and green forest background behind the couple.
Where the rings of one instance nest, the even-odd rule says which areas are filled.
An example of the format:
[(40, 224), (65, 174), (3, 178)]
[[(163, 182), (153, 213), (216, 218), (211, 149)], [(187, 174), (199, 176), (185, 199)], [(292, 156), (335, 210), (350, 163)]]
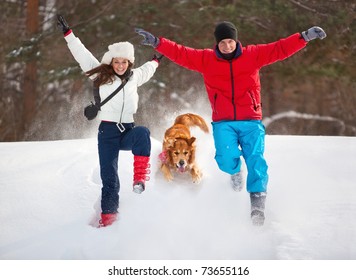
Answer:
[[(3, 0), (0, 9), (0, 141), (76, 139), (96, 129), (83, 116), (92, 84), (70, 54), (57, 14), (99, 60), (109, 44), (133, 43), (135, 66), (155, 54), (135, 27), (211, 48), (221, 20), (237, 26), (243, 46), (320, 26), (325, 40), (261, 71), (267, 134), (356, 135), (355, 1)], [(168, 59), (139, 94), (136, 123), (157, 138), (161, 121), (182, 111), (210, 115), (202, 77)]]

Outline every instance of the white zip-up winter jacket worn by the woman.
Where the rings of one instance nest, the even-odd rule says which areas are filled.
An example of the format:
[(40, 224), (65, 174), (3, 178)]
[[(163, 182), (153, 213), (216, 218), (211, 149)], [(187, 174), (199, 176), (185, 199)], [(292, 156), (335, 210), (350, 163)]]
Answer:
[[(76, 37), (73, 32), (64, 38), (67, 41), (69, 50), (84, 72), (100, 65), (100, 62), (82, 44), (80, 39)], [(152, 60), (146, 62), (141, 67), (132, 69), (133, 75), (129, 81), (126, 83), (124, 88), (120, 90), (120, 92), (118, 92), (109, 102), (101, 107), (97, 118), (103, 121), (117, 123), (134, 122), (133, 115), (137, 111), (139, 100), (137, 88), (146, 83), (153, 76), (157, 67), (158, 62)], [(115, 76), (113, 83), (100, 86), (99, 94), (101, 101), (115, 91), (120, 84), (121, 79)]]

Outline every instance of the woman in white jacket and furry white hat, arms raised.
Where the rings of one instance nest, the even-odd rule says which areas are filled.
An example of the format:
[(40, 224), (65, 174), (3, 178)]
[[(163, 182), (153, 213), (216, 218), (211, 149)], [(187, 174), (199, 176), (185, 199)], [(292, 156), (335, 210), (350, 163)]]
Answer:
[(119, 208), (119, 151), (131, 150), (134, 155), (134, 192), (143, 192), (145, 182), (149, 179), (147, 174), (150, 167), (150, 131), (147, 127), (135, 126), (133, 115), (138, 107), (137, 88), (153, 76), (160, 58), (154, 57), (152, 61), (133, 69), (133, 45), (129, 42), (119, 42), (110, 45), (99, 62), (74, 35), (65, 19), (58, 15), (57, 20), (74, 59), (94, 81), (94, 86), (99, 88), (101, 100), (108, 97), (128, 78), (125, 86), (101, 107), (97, 116), (101, 120), (98, 132), (102, 180), (99, 226), (108, 226), (117, 219)]

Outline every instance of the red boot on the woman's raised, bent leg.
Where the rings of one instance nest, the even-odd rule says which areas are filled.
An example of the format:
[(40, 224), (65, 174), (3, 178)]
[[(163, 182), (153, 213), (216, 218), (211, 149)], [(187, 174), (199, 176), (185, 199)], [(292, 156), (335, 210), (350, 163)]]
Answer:
[(134, 156), (134, 178), (133, 191), (142, 193), (145, 190), (145, 182), (150, 179), (147, 174), (150, 174), (150, 157)]

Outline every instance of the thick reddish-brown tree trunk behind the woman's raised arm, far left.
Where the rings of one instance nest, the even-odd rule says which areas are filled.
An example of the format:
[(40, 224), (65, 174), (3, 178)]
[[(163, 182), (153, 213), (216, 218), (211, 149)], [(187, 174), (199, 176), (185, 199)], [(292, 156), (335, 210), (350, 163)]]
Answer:
[[(39, 17), (39, 0), (27, 1), (27, 16), (26, 16), (26, 31), (28, 37), (35, 35), (38, 32), (38, 17)], [(22, 118), (22, 133), (23, 136), (29, 128), (36, 113), (37, 101), (37, 62), (36, 62), (37, 45), (33, 45), (31, 57), (25, 65), (25, 76), (23, 85), (23, 118)]]

